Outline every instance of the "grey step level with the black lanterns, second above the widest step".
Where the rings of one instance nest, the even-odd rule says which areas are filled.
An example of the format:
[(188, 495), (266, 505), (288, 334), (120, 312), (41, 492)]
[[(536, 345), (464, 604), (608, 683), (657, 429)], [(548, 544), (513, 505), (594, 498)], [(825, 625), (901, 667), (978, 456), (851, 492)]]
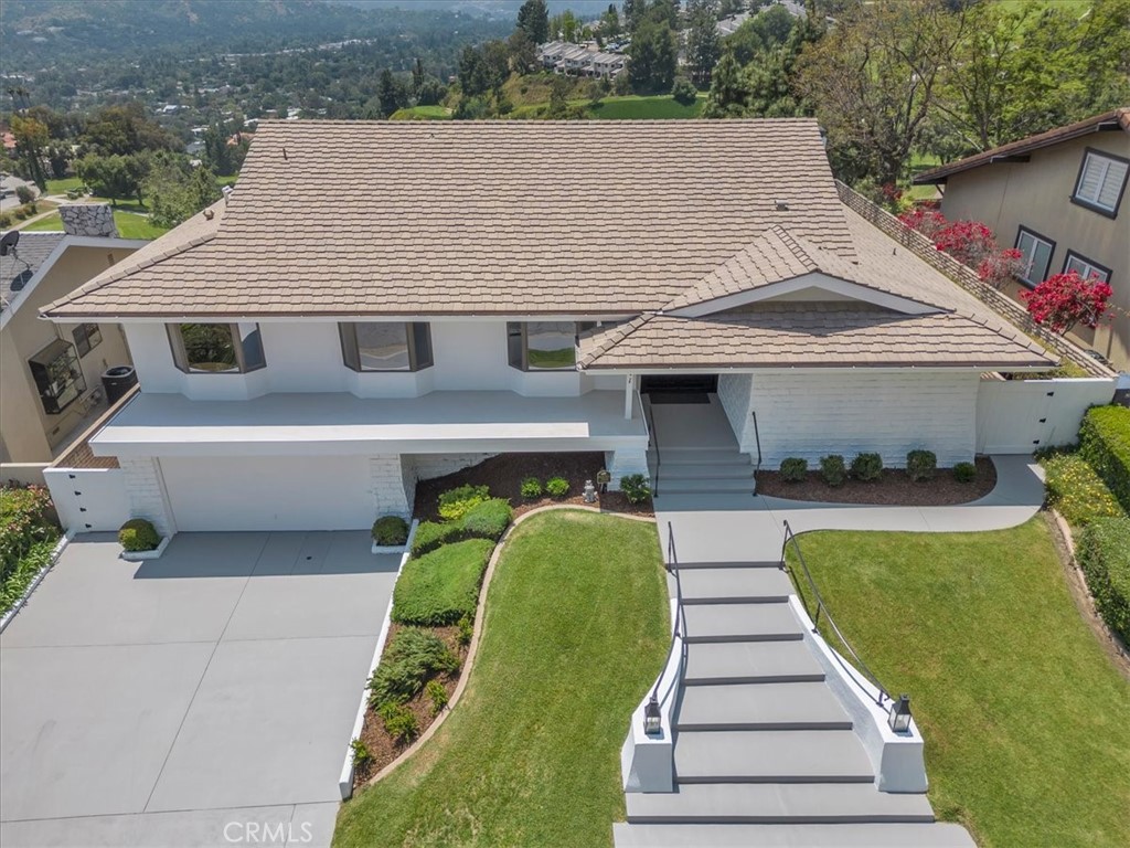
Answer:
[(851, 718), (820, 683), (687, 686), (678, 730), (850, 730)]

